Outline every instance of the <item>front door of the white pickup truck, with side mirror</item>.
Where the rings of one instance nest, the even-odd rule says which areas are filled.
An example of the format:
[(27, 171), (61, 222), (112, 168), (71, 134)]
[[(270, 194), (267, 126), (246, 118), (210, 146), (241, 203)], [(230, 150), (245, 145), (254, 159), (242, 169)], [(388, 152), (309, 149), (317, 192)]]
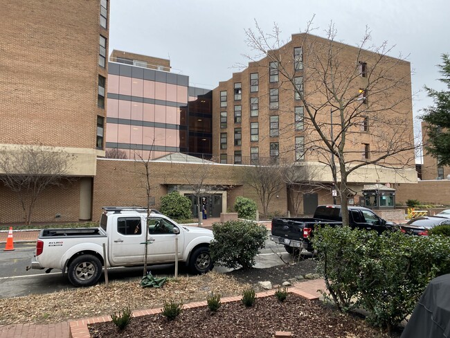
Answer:
[(179, 258), (183, 254), (183, 231), (175, 235), (174, 227), (169, 220), (157, 215), (150, 216), (147, 222), (149, 240), (152, 244), (148, 247), (147, 260), (149, 263), (173, 262), (175, 260), (175, 238), (178, 236), (178, 254)]

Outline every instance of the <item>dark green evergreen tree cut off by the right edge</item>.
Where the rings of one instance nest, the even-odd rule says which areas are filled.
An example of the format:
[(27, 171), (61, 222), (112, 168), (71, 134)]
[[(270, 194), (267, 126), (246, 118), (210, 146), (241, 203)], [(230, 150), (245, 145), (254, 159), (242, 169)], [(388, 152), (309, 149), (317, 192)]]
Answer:
[(450, 166), (450, 55), (442, 55), (442, 64), (438, 65), (447, 91), (436, 91), (425, 87), (433, 98), (434, 106), (424, 109), (422, 119), (427, 123), (428, 142), (425, 149), (438, 159), (438, 166)]

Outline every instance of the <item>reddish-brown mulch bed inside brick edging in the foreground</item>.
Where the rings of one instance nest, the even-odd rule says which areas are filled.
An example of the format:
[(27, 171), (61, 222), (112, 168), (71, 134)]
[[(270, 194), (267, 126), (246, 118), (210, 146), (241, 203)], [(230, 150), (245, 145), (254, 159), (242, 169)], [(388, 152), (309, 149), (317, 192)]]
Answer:
[(217, 312), (208, 308), (183, 310), (168, 321), (162, 314), (133, 318), (119, 331), (114, 323), (89, 326), (91, 337), (274, 337), (276, 331), (289, 331), (292, 337), (389, 337), (369, 328), (363, 319), (326, 308), (289, 294), (285, 302), (276, 296), (258, 298), (251, 308), (240, 301), (224, 303)]

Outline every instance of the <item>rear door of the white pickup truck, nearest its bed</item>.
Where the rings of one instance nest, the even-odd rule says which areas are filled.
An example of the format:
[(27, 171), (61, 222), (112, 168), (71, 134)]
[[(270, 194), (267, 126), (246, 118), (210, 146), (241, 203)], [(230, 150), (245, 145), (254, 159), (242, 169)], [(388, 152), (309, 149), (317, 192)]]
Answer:
[(112, 225), (109, 260), (114, 265), (144, 263), (144, 242), (141, 217), (117, 217)]

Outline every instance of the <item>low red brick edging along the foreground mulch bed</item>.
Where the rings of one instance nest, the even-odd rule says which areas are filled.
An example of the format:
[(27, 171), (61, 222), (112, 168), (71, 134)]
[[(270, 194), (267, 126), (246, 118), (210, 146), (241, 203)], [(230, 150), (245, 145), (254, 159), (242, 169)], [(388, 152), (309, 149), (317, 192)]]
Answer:
[[(275, 294), (276, 290), (268, 290), (264, 292), (258, 292), (256, 294), (256, 298), (261, 297), (267, 297), (267, 296), (273, 296)], [(319, 299), (319, 297), (316, 294), (310, 294), (308, 292), (305, 292), (304, 290), (300, 290), (295, 285), (292, 287), (289, 287), (289, 293), (296, 294), (298, 296), (304, 297), (309, 300)], [(240, 301), (242, 299), (242, 296), (231, 296), (231, 297), (225, 297), (221, 299), (222, 303), (228, 303), (232, 301)], [(190, 309), (190, 308), (200, 308), (201, 306), (206, 306), (206, 301), (197, 301), (193, 303), (188, 303), (183, 305), (184, 309)], [(133, 317), (141, 317), (145, 316), (147, 314), (159, 314), (162, 312), (162, 308), (156, 308), (151, 310), (135, 310), (132, 312)], [(102, 316), (102, 317), (94, 317), (94, 318), (88, 318), (88, 319), (80, 319), (79, 321), (69, 321), (69, 337), (71, 338), (90, 338), (91, 335), (89, 335), (89, 329), (87, 328), (88, 324), (93, 323), (104, 323), (105, 321), (111, 321), (111, 316)]]

